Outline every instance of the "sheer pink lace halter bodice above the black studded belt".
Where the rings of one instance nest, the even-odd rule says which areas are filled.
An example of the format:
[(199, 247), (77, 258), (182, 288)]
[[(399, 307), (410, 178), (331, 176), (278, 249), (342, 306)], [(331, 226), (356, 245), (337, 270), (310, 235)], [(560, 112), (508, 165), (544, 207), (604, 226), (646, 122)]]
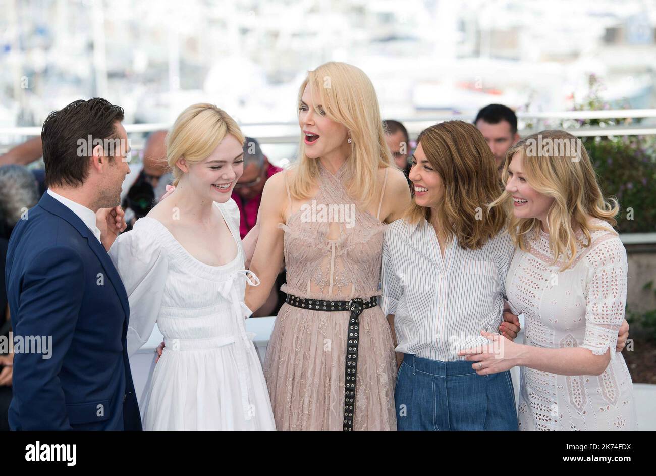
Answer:
[[(317, 195), (292, 213), (286, 224), (279, 225), (285, 230), (287, 284), (281, 288), (283, 292), (344, 300), (380, 294), (384, 223), (358, 209), (349, 198), (343, 184), (344, 165), (335, 175), (319, 165)], [(331, 217), (333, 223), (329, 223)], [(339, 238), (329, 240), (337, 228)]]

